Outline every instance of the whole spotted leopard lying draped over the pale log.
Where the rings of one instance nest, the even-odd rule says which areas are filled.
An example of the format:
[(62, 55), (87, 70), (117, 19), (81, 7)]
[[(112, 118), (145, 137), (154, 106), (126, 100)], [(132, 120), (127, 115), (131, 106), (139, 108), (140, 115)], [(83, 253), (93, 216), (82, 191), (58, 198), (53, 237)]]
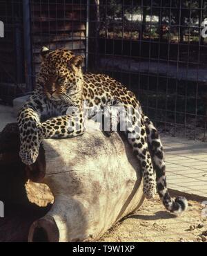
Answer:
[[(83, 62), (83, 56), (66, 48), (41, 48), (41, 68), (34, 91), (17, 118), (21, 161), (27, 166), (33, 165), (43, 139), (82, 136), (86, 131), (86, 119), (94, 118), (98, 112), (104, 115), (105, 107), (125, 109), (128, 114), (123, 132), (141, 167), (146, 199), (159, 194), (166, 210), (174, 214), (185, 212), (188, 208), (186, 198), (173, 199), (169, 194), (159, 132), (144, 114), (135, 93), (108, 75), (83, 73)], [(110, 127), (108, 134), (112, 132)]]

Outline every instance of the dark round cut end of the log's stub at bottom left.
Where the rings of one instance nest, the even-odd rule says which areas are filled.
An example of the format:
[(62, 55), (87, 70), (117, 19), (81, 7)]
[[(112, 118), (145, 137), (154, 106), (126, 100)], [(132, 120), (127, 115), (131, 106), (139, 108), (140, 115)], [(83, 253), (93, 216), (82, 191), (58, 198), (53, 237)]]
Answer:
[(46, 216), (35, 221), (30, 227), (28, 241), (30, 243), (59, 242), (59, 230), (55, 219), (53, 217)]

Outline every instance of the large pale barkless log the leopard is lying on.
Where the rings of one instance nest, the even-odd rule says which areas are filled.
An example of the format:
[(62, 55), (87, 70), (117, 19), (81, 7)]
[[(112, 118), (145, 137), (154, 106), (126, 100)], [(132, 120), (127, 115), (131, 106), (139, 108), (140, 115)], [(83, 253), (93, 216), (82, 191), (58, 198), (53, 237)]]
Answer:
[[(4, 164), (6, 156), (1, 157)], [(48, 214), (32, 224), (30, 242), (94, 241), (144, 201), (139, 164), (119, 134), (107, 138), (98, 131), (44, 140), (37, 163), (24, 168), (30, 201), (40, 206), (55, 201)]]

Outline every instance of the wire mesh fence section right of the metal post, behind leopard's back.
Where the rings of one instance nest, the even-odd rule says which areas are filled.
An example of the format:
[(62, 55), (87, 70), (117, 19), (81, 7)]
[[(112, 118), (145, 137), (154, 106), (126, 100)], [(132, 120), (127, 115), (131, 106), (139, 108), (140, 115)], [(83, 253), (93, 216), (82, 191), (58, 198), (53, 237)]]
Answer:
[[(137, 93), (172, 136), (206, 138), (206, 1), (100, 0), (90, 15), (90, 67)], [(96, 37), (96, 38), (94, 38)], [(89, 39), (89, 42), (90, 42)], [(96, 48), (97, 51), (93, 51)], [(95, 63), (95, 65), (93, 65)]]

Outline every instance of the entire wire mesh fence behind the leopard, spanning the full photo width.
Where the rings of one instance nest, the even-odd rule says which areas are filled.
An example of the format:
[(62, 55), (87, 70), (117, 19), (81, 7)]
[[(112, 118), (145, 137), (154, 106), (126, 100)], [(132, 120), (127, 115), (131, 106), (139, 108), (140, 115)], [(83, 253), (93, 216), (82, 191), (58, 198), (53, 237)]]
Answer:
[[(108, 73), (134, 91), (160, 131), (206, 138), (206, 0), (28, 2), (30, 24), (23, 23), (23, 1), (0, 1), (6, 24), (0, 98), (32, 90), (42, 46), (68, 48), (83, 55), (84, 71)], [(24, 59), (30, 62), (26, 70)]]

